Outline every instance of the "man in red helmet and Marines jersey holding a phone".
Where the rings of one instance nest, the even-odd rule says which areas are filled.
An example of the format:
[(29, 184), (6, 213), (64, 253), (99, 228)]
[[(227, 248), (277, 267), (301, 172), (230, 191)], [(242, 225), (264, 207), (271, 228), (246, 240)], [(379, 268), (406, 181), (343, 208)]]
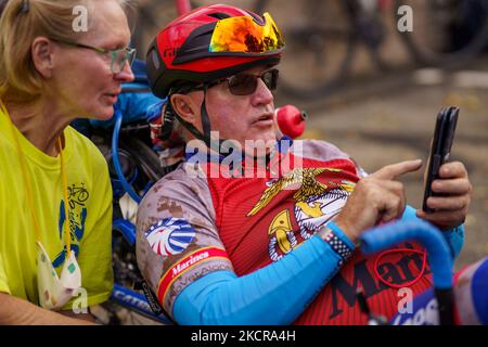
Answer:
[(397, 291), (431, 285), (415, 243), (375, 261), (355, 250), (381, 222), (422, 218), (455, 257), (471, 184), (442, 166), (425, 214), (395, 179), (421, 160), (367, 176), (347, 154), (313, 140), (277, 139), (271, 90), (284, 43), (271, 16), (201, 8), (165, 27), (147, 53), (153, 92), (169, 98), (165, 125), (184, 128), (187, 160), (159, 180), (138, 214), (139, 267), (182, 324), (364, 324), (356, 291), (391, 319)]

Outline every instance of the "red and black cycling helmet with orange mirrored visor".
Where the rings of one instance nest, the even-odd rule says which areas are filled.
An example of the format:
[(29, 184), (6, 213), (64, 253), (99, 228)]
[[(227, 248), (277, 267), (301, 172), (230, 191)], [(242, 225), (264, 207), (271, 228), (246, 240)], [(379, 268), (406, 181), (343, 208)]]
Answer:
[(271, 16), (215, 4), (182, 15), (147, 50), (151, 88), (166, 98), (179, 83), (202, 83), (257, 65), (275, 65), (284, 48)]

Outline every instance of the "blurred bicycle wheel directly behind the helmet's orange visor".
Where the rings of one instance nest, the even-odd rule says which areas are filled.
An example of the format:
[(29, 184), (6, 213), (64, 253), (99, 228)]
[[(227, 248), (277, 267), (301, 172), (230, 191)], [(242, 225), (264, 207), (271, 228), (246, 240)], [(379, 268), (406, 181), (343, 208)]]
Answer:
[(303, 99), (324, 97), (347, 77), (357, 35), (343, 0), (258, 0), (253, 11), (269, 12), (283, 31), (281, 91)]

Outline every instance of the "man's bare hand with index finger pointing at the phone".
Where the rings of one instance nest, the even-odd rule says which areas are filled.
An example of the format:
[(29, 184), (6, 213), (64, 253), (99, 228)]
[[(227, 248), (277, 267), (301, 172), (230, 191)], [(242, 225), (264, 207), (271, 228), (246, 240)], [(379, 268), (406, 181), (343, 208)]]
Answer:
[(395, 179), (421, 167), (421, 159), (407, 160), (385, 166), (361, 179), (335, 218), (335, 223), (356, 243), (364, 230), (401, 218), (406, 195), (403, 184)]

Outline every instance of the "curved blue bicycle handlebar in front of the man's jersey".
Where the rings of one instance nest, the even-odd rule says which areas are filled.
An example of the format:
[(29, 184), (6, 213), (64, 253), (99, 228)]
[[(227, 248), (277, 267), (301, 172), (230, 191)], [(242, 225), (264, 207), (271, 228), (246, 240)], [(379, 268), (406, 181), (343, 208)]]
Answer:
[(365, 231), (361, 236), (364, 255), (380, 252), (408, 240), (422, 244), (427, 249), (428, 264), (437, 290), (452, 288), (452, 258), (449, 246), (440, 231), (425, 221), (398, 221)]

